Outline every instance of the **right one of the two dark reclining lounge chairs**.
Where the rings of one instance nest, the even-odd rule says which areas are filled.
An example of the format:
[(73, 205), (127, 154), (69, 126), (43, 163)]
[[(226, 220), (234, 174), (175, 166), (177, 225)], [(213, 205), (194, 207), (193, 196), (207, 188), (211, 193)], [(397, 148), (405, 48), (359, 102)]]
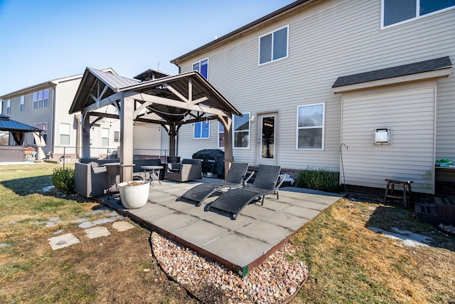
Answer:
[(230, 214), (232, 219), (237, 219), (238, 214), (247, 204), (262, 201), (261, 206), (263, 206), (267, 194), (277, 194), (277, 199), (279, 199), (278, 189), (284, 181), (284, 175), (279, 175), (280, 170), (279, 166), (259, 164), (255, 181), (251, 187), (230, 189), (218, 196), (207, 210), (215, 209)]

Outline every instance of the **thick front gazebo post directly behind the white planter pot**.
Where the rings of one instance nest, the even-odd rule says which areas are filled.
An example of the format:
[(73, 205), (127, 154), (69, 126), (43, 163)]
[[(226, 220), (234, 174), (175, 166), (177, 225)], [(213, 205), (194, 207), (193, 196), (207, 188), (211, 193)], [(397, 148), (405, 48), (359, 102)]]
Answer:
[(133, 179), (134, 99), (121, 99), (120, 106), (120, 182)]

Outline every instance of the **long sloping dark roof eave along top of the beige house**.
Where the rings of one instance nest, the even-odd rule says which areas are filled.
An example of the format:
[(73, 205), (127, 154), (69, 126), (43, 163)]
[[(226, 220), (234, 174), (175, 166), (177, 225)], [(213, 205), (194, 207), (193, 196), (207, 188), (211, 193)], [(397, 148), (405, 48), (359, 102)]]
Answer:
[(299, 0), (295, 1), (287, 6), (282, 7), (281, 9), (278, 9), (277, 11), (274, 11), (262, 18), (257, 19), (256, 21), (252, 21), (251, 23), (248, 23), (246, 26), (242, 26), (241, 28), (237, 28), (235, 31), (232, 31), (225, 36), (222, 36), (220, 38), (215, 39), (214, 41), (211, 41), (209, 43), (206, 43), (203, 46), (200, 46), (199, 48), (196, 48), (193, 51), (190, 51), (178, 58), (175, 58), (171, 60), (171, 63), (178, 65), (181, 63), (181, 61), (185, 60), (186, 58), (196, 56), (199, 52), (205, 51), (207, 48), (212, 48), (218, 45), (221, 45), (223, 43), (226, 43), (230, 38), (233, 38), (237, 35), (242, 35), (246, 33), (247, 31), (252, 31), (256, 26), (264, 26), (265, 23), (268, 22), (273, 22), (275, 19), (279, 18), (280, 15), (282, 14), (289, 14), (291, 11), (294, 11), (294, 9), (299, 9), (299, 6), (302, 4), (306, 4), (309, 2), (313, 2), (314, 0)]

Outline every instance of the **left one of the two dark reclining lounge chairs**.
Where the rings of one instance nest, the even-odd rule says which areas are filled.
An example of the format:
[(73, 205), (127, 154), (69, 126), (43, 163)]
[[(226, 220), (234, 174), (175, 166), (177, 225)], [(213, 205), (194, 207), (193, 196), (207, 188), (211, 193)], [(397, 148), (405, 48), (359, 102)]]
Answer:
[(250, 174), (250, 177), (247, 177), (247, 179), (245, 179), (247, 169), (247, 162), (232, 162), (228, 175), (223, 182), (206, 182), (203, 184), (198, 184), (197, 186), (189, 189), (176, 200), (185, 201), (187, 203), (200, 206), (200, 204), (202, 204), (202, 202), (207, 199), (208, 196), (211, 196), (215, 192), (219, 192), (223, 188), (231, 189), (233, 187), (244, 185), (247, 179), (249, 179), (252, 175)]

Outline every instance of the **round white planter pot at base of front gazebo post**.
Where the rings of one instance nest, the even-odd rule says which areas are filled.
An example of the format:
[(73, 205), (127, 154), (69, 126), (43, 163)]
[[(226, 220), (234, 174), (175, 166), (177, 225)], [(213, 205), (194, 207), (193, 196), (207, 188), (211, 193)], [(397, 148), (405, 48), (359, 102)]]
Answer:
[[(130, 183), (139, 185), (129, 185)], [(119, 186), (120, 200), (127, 209), (137, 209), (147, 204), (149, 199), (150, 181), (122, 182)]]

